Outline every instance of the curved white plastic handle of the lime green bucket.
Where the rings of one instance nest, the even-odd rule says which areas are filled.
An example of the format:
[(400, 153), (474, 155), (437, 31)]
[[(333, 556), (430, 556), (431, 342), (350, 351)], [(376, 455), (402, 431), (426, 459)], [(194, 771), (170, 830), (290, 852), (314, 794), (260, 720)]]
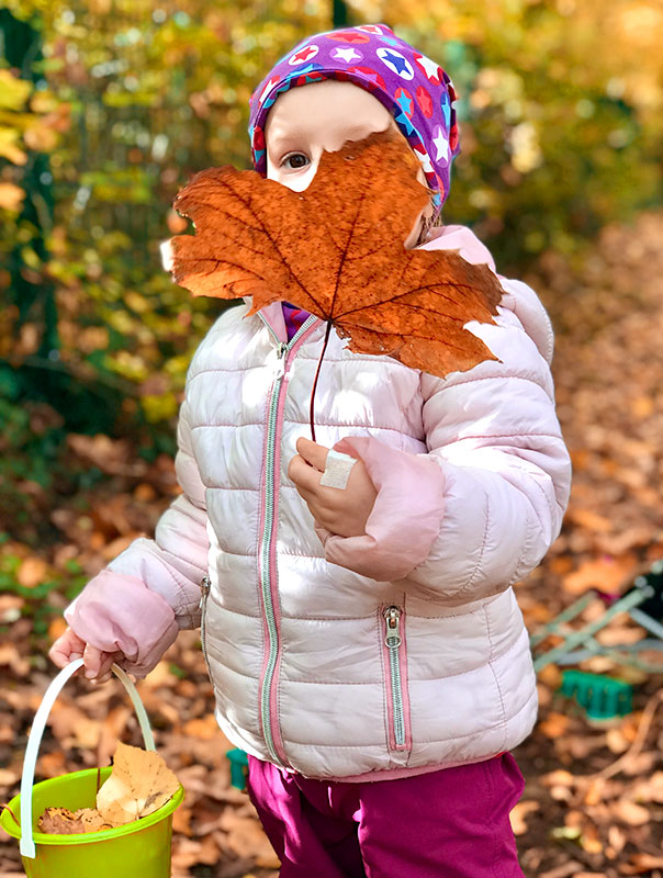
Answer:
[[(25, 747), (25, 756), (23, 757), (23, 777), (21, 778), (21, 856), (30, 857), (33, 859), (36, 855), (34, 841), (32, 837), (32, 785), (34, 783), (34, 770), (40, 752), (40, 744), (42, 743), (42, 735), (46, 728), (46, 720), (50, 713), (50, 708), (55, 703), (55, 699), (60, 694), (60, 690), (69, 679), (82, 665), (82, 658), (76, 658), (64, 667), (60, 673), (54, 677), (50, 685), (44, 693), (44, 699), (35, 713), (30, 736), (27, 738), (27, 746)], [(133, 701), (141, 731), (143, 732), (143, 741), (145, 742), (145, 750), (156, 751), (155, 741), (149, 728), (149, 720), (141, 700), (141, 696), (134, 684), (127, 677), (125, 672), (117, 665), (113, 665), (113, 674), (124, 684), (124, 688)]]

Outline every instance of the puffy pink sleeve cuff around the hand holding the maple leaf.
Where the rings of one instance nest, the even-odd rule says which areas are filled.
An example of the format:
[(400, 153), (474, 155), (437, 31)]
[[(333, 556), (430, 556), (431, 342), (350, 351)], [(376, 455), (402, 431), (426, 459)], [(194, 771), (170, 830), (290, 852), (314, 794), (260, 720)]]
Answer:
[(372, 437), (334, 446), (360, 458), (378, 489), (361, 537), (339, 537), (316, 526), (333, 564), (379, 582), (403, 579), (428, 558), (442, 524), (445, 476), (425, 454), (390, 448)]

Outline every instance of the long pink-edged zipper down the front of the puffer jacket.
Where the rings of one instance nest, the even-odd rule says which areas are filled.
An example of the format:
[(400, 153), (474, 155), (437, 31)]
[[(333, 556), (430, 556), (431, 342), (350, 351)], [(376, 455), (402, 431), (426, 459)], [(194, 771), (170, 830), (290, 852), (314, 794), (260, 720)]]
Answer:
[(260, 590), (267, 630), (267, 658), (263, 666), (262, 680), (260, 683), (260, 719), (269, 755), (277, 765), (284, 767), (288, 764), (285, 754), (282, 746), (277, 744), (276, 736), (278, 731), (272, 728), (271, 721), (272, 684), (274, 682), (274, 673), (281, 651), (280, 631), (274, 608), (274, 598), (278, 589), (276, 579), (277, 550), (274, 539), (274, 500), (280, 481), (280, 449), (277, 448), (278, 412), (281, 402), (283, 379), (285, 376), (288, 354), (304, 333), (307, 333), (315, 323), (319, 322), (319, 318), (313, 315), (307, 317), (292, 339), (285, 342), (280, 340), (265, 317), (262, 317), (261, 314), (259, 316), (277, 340), (277, 357), (279, 363), (269, 399), (265, 464), (265, 519), (260, 539)]

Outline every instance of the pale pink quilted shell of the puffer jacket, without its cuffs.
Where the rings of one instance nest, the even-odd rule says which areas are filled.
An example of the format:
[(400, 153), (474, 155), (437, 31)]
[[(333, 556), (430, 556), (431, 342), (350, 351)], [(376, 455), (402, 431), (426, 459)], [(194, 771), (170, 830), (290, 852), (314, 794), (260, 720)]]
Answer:
[[(492, 264), (462, 227), (425, 246)], [(323, 545), (288, 479), (296, 439), (310, 435), (325, 324), (307, 322), (280, 359), (280, 303), (251, 317), (243, 305), (225, 312), (196, 351), (179, 427), (184, 493), (155, 540), (137, 540), (110, 569), (148, 584), (180, 627), (200, 622), (199, 583), (209, 575), (204, 645), (216, 714), (248, 753), (310, 777), (379, 779), (487, 758), (532, 728), (535, 675), (512, 586), (560, 530), (570, 464), (554, 413), (550, 324), (526, 284), (502, 280), (497, 325), (470, 325), (499, 361), (446, 380), (351, 353), (332, 334), (317, 441), (369, 439), (366, 449), (392, 455), (392, 471), (398, 460), (412, 463), (415, 482), (417, 462), (439, 468), (426, 469), (428, 477), (439, 472), (443, 496), (430, 506), (437, 518), (425, 554), (413, 539), (407, 555), (405, 541), (398, 578), (367, 575), (361, 543), (344, 545), (363, 538), (327, 534)], [(390, 520), (378, 522), (378, 542), (394, 528), (414, 536), (415, 482), (409, 491), (408, 480), (389, 485), (404, 503), (380, 513)], [(397, 709), (385, 651), (390, 606), (403, 614)], [(406, 735), (394, 745), (398, 710)]]

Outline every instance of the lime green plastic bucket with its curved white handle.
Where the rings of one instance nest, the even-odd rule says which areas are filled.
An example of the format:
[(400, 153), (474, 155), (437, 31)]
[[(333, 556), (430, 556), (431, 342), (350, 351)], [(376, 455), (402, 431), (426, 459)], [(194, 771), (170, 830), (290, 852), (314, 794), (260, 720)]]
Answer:
[[(34, 768), (42, 734), (50, 708), (69, 677), (82, 665), (82, 658), (67, 665), (55, 677), (36, 712), (25, 748), (21, 793), (0, 815), (0, 825), (20, 838), (23, 867), (27, 878), (169, 878), (172, 812), (184, 798), (180, 786), (162, 808), (124, 826), (76, 835), (49, 835), (36, 831), (45, 808), (63, 807), (75, 811), (93, 808), (97, 796), (97, 768), (34, 781)], [(156, 750), (147, 713), (135, 686), (122, 668), (113, 672), (124, 684), (136, 709), (146, 750)], [(100, 769), (101, 783), (111, 767)], [(20, 825), (16, 825), (12, 813)], [(22, 826), (26, 831), (22, 831)]]

